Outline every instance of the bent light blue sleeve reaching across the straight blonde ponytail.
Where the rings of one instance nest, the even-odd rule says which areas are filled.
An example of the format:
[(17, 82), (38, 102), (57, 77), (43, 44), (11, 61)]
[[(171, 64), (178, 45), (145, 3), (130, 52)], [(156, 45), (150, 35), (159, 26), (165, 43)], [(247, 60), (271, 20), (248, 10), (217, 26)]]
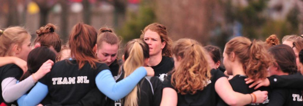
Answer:
[(130, 93), (138, 82), (147, 74), (144, 67), (137, 68), (131, 75), (116, 82), (108, 69), (103, 70), (96, 76), (98, 89), (112, 100), (119, 100)]

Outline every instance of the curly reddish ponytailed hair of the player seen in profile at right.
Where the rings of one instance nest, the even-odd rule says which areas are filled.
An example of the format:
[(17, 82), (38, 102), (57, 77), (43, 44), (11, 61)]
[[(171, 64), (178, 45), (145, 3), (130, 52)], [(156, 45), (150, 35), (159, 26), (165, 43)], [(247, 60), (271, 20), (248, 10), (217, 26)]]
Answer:
[(235, 53), (239, 62), (243, 64), (245, 74), (254, 80), (266, 78), (267, 68), (273, 63), (270, 55), (262, 41), (250, 41), (245, 37), (235, 37), (225, 45), (225, 53)]

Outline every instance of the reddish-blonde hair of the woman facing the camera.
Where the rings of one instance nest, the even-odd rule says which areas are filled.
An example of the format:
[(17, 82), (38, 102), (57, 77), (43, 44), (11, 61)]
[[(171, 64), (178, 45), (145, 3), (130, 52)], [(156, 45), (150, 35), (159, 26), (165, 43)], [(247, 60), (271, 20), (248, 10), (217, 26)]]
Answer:
[(161, 39), (161, 42), (164, 42), (165, 41), (165, 46), (164, 48), (162, 49), (162, 55), (163, 56), (168, 56), (168, 57), (171, 57), (171, 44), (172, 44), (172, 41), (170, 38), (168, 38), (168, 33), (167, 33), (167, 30), (166, 30), (166, 27), (162, 24), (159, 24), (159, 23), (152, 23), (150, 25), (147, 25), (144, 30), (142, 31), (142, 34), (140, 36), (140, 39), (144, 39), (144, 34), (147, 30), (151, 30), (151, 31), (154, 31), (154, 32), (157, 32), (159, 35), (160, 35), (160, 39)]

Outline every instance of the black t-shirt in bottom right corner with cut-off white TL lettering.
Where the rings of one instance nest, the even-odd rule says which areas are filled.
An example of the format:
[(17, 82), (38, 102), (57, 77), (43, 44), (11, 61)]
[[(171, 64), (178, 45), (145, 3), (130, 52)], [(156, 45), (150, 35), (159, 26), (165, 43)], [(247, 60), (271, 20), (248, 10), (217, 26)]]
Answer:
[(298, 89), (274, 89), (268, 106), (303, 106), (302, 91)]

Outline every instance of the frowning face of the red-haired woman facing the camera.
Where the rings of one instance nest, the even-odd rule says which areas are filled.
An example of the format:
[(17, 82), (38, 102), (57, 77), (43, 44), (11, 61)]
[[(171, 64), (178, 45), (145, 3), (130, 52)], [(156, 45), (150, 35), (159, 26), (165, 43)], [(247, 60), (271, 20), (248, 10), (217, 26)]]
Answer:
[(147, 30), (143, 39), (148, 44), (150, 56), (162, 54), (166, 42), (161, 42), (160, 35), (157, 32)]

